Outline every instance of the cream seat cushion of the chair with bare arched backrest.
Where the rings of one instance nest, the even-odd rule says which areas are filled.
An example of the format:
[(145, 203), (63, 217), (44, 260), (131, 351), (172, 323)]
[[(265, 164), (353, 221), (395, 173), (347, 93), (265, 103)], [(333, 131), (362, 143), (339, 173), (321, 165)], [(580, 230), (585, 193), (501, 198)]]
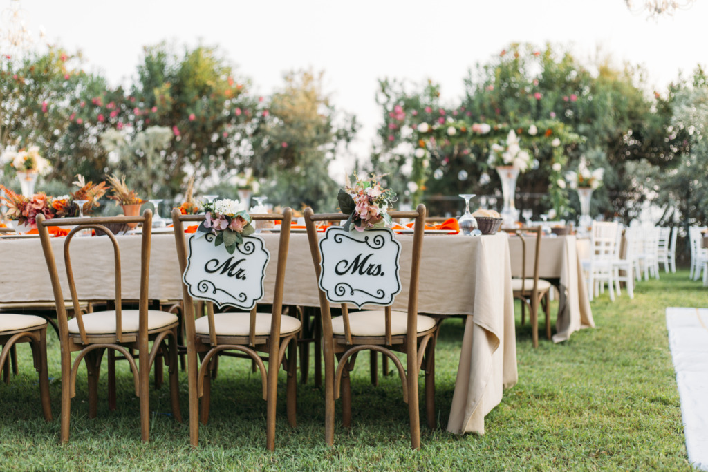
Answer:
[[(139, 323), (139, 310), (122, 310), (120, 311), (120, 327), (122, 333), (137, 333)], [(95, 313), (86, 313), (81, 316), (84, 320), (84, 329), (86, 334), (110, 334), (115, 333), (115, 311), (96, 311)], [(176, 323), (178, 320), (176, 315), (167, 313), (166, 311), (148, 310), (147, 311), (147, 329), (149, 331), (169, 326)], [(79, 333), (79, 323), (76, 318), (69, 320), (69, 333)]]

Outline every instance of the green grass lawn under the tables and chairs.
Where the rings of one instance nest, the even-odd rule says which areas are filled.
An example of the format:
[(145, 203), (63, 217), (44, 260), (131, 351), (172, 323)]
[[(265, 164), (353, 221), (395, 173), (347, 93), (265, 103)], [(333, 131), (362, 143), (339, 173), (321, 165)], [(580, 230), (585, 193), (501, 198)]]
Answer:
[[(260, 379), (242, 359), (219, 366), (199, 449), (188, 445), (187, 422), (178, 424), (167, 413), (166, 386), (152, 391), (152, 440), (140, 441), (138, 401), (125, 362), (118, 372), (118, 410), (109, 412), (102, 400), (95, 420), (87, 418), (86, 372), (80, 370), (71, 442), (60, 446), (58, 420), (42, 419), (24, 345), (20, 375), (0, 384), (0, 470), (690, 470), (665, 309), (705, 306), (708, 291), (690, 282), (687, 271), (661, 277), (641, 282), (633, 301), (623, 293), (613, 304), (605, 292), (593, 301), (597, 328), (566, 343), (542, 340), (534, 350), (528, 326), (517, 323), (519, 382), (486, 417), (484, 436), (445, 431), (462, 338), (462, 323), (445, 321), (436, 353), (439, 427), (421, 427), (420, 451), (410, 449), (399, 381), (387, 377), (370, 386), (366, 357), (353, 379), (353, 427), (336, 428), (334, 447), (324, 444), (324, 396), (310, 376), (299, 386), (297, 428), (287, 425), (281, 402), (276, 451), (265, 451)], [(59, 343), (53, 333), (49, 338), (50, 377), (58, 379)], [(105, 376), (102, 381), (103, 394)], [(283, 398), (282, 376), (280, 386)], [(58, 418), (59, 382), (50, 388)], [(185, 376), (181, 398), (186, 416)]]

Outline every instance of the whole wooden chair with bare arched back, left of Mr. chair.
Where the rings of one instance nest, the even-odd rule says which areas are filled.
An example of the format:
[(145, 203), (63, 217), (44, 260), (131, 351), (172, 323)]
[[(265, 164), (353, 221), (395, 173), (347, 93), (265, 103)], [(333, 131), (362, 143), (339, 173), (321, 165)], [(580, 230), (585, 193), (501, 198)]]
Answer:
[[(139, 309), (122, 309), (121, 291), (121, 257), (118, 240), (107, 226), (116, 223), (142, 224), (142, 244), (140, 253), (140, 286)], [(42, 249), (52, 280), (55, 303), (57, 305), (57, 322), (59, 325), (59, 341), (62, 344), (62, 413), (61, 442), (69, 441), (69, 418), (71, 399), (76, 395), (76, 372), (81, 360), (86, 362), (89, 377), (89, 418), (96, 418), (98, 412), (98, 375), (101, 369), (101, 359), (105, 350), (109, 357), (114, 351), (120, 352), (130, 363), (130, 369), (135, 383), (135, 395), (140, 400), (140, 430), (142, 440), (147, 442), (150, 434), (149, 408), (149, 374), (155, 358), (161, 352), (166, 352), (165, 362), (169, 362), (170, 394), (172, 414), (176, 420), (182, 420), (179, 408), (178, 367), (177, 367), (177, 316), (149, 309), (148, 275), (150, 265), (150, 243), (152, 236), (152, 212), (145, 210), (142, 216), (136, 217), (106, 217), (106, 218), (62, 218), (45, 220), (42, 215), (37, 217)], [(67, 270), (69, 291), (74, 305), (74, 318), (67, 316), (64, 306), (64, 294), (57, 272), (57, 261), (50, 240), (47, 226), (75, 226), (64, 239), (64, 265)], [(70, 245), (78, 231), (96, 229), (104, 231), (113, 246), (115, 270), (115, 309), (81, 313), (79, 295), (74, 283), (74, 272), (70, 258)], [(138, 236), (132, 236), (138, 237)], [(90, 241), (93, 243), (93, 240)], [(149, 342), (152, 341), (152, 348)], [(131, 354), (137, 350), (137, 359)], [(72, 364), (72, 352), (79, 352)], [(108, 390), (113, 390), (115, 372), (111, 372), (113, 362), (108, 363)], [(115, 404), (109, 396), (109, 407)]]

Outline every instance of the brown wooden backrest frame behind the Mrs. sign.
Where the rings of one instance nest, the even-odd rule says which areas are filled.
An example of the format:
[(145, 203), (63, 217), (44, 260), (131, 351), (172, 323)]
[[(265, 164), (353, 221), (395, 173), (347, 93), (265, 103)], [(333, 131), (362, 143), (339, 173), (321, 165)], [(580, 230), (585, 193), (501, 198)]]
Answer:
[[(411, 271), (409, 279), (409, 292), (408, 292), (408, 324), (406, 326), (406, 334), (410, 339), (416, 339), (416, 333), (418, 332), (418, 279), (420, 277), (421, 271), (421, 253), (423, 252), (423, 231), (426, 226), (426, 206), (418, 205), (418, 208), (412, 211), (399, 212), (392, 211), (389, 212), (389, 216), (392, 219), (396, 218), (410, 218), (415, 220), (415, 225), (413, 226), (413, 249), (411, 254)], [(343, 213), (328, 213), (328, 214), (315, 214), (312, 208), (306, 208), (304, 210), (305, 226), (307, 227), (307, 237), (309, 238), (310, 252), (312, 253), (312, 262), (314, 263), (314, 270), (317, 276), (317, 281), (319, 281), (321, 275), (321, 254), (319, 251), (319, 236), (317, 236), (316, 222), (318, 221), (343, 221), (348, 219), (348, 214)], [(403, 236), (404, 238), (408, 236)], [(319, 285), (318, 285), (319, 287)], [(332, 313), (329, 304), (329, 300), (326, 294), (319, 289), (319, 304), (322, 313), (322, 331), (326, 338), (332, 336)], [(348, 344), (352, 343), (351, 329), (349, 325), (349, 313), (346, 304), (341, 304), (344, 333), (346, 342)], [(384, 308), (385, 317), (385, 335), (384, 342), (387, 345), (392, 343), (391, 335), (391, 306), (386, 306)], [(416, 343), (409, 343), (409, 347), (413, 350), (416, 349)]]

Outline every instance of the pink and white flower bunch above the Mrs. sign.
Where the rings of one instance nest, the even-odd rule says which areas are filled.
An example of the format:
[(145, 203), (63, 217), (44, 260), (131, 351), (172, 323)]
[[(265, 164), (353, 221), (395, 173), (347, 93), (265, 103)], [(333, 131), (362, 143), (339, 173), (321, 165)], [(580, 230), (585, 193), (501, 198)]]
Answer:
[(339, 190), (337, 202), (339, 209), (349, 218), (344, 223), (348, 231), (364, 231), (365, 229), (391, 227), (391, 217), (387, 208), (396, 201), (393, 190), (383, 189), (378, 179), (383, 175), (371, 175), (371, 178), (360, 179), (356, 173), (353, 186), (346, 185)]

